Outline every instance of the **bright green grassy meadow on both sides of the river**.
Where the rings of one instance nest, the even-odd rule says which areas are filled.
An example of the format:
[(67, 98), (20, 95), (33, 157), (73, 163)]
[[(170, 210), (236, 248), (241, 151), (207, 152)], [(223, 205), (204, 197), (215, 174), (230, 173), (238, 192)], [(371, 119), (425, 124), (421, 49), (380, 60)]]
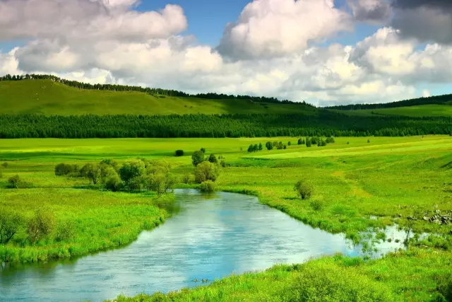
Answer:
[[(293, 301), (294, 297), (314, 295), (309, 289), (319, 286), (331, 289), (324, 293), (336, 298), (339, 294), (355, 295), (355, 301), (426, 301), (439, 294), (446, 296), (452, 288), (448, 283), (452, 280), (452, 226), (424, 221), (422, 216), (432, 216), (435, 210), (452, 210), (452, 137), (338, 137), (334, 144), (311, 148), (297, 145), (297, 139), (4, 139), (0, 164), (6, 162), (8, 167), (2, 168), (0, 186), (5, 187), (11, 176), (20, 175), (28, 188), (1, 189), (2, 209), (20, 210), (30, 216), (37, 207), (45, 206), (54, 211), (58, 221), (74, 217), (76, 236), (28, 245), (22, 231), (13, 242), (0, 246), (0, 258), (29, 262), (124, 245), (168, 215), (157, 205), (162, 198), (170, 200), (171, 195), (159, 199), (147, 192), (99, 192), (98, 185), (89, 185), (88, 180), (54, 175), (57, 163), (165, 158), (182, 182), (182, 175), (194, 170), (191, 153), (205, 148), (206, 154), (223, 156), (227, 163), (216, 181), (218, 190), (255, 194), (263, 204), (311, 226), (345, 233), (355, 241), (368, 228), (393, 223), (439, 236), (413, 242), (410, 251), (383, 260), (314, 260), (295, 268), (275, 267), (268, 272), (231, 277), (208, 287), (170, 294), (169, 298)], [(291, 145), (286, 150), (266, 151), (264, 147), (263, 151), (246, 152), (250, 144), (265, 145), (266, 141), (287, 145), (290, 141)], [(184, 150), (185, 156), (174, 156), (177, 149)], [(314, 186), (309, 201), (299, 199), (293, 191), (300, 179)], [(80, 187), (93, 190), (68, 190)], [(114, 215), (120, 212), (124, 214)], [(146, 222), (134, 222), (137, 217)], [(95, 244), (89, 245), (88, 240)], [(337, 275), (347, 278), (337, 280)], [(273, 285), (268, 285), (269, 281)], [(284, 293), (292, 296), (281, 296)], [(142, 296), (135, 301), (141, 301), (139, 298), (151, 299)], [(324, 301), (328, 296), (317, 298)]]

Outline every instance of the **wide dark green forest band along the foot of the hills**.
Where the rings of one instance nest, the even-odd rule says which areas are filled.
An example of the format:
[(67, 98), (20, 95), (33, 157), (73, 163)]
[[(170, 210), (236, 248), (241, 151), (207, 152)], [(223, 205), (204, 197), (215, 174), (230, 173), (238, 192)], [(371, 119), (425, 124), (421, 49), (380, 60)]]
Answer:
[(451, 117), (319, 115), (0, 115), (0, 139), (404, 137), (451, 134)]

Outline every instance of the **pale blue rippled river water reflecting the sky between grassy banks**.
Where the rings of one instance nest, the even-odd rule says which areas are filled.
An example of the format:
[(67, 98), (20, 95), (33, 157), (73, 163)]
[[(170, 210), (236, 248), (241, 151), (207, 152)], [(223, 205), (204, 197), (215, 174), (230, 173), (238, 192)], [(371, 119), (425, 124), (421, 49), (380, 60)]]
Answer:
[[(0, 301), (102, 301), (118, 294), (174, 291), (194, 286), (195, 278), (213, 280), (335, 252), (359, 253), (343, 235), (305, 226), (255, 197), (219, 193), (206, 200), (193, 190), (179, 190), (176, 196), (183, 210), (126, 248), (74, 262), (2, 269)], [(395, 236), (403, 240), (403, 234)]]

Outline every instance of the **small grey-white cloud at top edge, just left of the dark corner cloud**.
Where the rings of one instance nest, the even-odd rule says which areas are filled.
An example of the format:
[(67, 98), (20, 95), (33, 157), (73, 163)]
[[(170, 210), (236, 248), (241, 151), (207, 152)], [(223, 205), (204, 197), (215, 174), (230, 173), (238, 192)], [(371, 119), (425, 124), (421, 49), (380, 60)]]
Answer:
[(391, 17), (391, 4), (386, 0), (347, 0), (357, 21), (386, 23)]

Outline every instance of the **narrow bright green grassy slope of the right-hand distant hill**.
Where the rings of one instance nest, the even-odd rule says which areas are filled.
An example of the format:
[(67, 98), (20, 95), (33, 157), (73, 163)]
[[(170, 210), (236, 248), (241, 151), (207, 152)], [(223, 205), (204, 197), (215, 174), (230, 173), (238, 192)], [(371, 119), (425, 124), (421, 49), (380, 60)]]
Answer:
[(409, 117), (452, 117), (451, 105), (419, 105), (365, 110), (331, 110), (346, 115), (404, 115)]

